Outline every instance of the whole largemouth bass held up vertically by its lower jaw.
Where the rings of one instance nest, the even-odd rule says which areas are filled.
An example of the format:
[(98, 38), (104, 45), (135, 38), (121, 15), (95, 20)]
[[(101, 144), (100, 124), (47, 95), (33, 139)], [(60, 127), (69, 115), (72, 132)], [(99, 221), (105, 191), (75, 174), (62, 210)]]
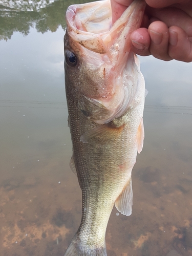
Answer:
[(143, 147), (145, 82), (131, 33), (145, 2), (135, 0), (112, 25), (110, 0), (71, 5), (64, 37), (65, 85), (73, 155), (82, 191), (80, 226), (65, 256), (105, 256), (114, 207), (132, 213), (132, 169)]

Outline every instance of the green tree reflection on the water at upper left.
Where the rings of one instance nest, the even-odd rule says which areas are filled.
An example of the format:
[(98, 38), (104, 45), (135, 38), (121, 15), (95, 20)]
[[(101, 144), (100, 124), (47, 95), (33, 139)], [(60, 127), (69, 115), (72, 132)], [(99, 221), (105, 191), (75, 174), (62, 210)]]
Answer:
[[(35, 10), (35, 2), (39, 4), (40, 1), (45, 7)], [(51, 4), (49, 0), (40, 1), (0, 1), (0, 40), (10, 39), (14, 32), (20, 32), (26, 36), (29, 34), (31, 27), (36, 28), (41, 33), (47, 31), (55, 32), (59, 26), (65, 30), (65, 13), (72, 1), (57, 0), (52, 1), (53, 3)], [(16, 5), (16, 2), (19, 2), (20, 5)], [(73, 0), (73, 4), (86, 2), (90, 1)], [(11, 6), (10, 3), (12, 3)]]

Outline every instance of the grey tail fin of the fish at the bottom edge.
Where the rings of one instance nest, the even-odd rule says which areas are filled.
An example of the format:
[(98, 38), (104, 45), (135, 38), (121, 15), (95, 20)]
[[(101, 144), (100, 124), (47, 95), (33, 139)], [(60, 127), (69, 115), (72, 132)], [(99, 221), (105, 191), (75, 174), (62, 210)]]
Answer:
[(107, 256), (106, 247), (91, 248), (88, 245), (82, 245), (77, 234), (71, 241), (64, 256)]

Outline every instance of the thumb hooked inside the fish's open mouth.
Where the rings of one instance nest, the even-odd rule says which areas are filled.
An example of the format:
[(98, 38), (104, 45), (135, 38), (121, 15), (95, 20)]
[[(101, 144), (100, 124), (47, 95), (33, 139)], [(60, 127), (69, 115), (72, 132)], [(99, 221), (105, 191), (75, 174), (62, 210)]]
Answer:
[(111, 0), (113, 24), (121, 16), (121, 14), (126, 10), (127, 6), (131, 5), (132, 2), (133, 0)]

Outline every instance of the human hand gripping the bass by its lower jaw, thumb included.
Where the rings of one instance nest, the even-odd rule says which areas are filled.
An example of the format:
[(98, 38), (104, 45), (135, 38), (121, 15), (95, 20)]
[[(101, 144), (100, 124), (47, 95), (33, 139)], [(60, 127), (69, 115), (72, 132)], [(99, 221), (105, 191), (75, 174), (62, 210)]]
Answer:
[[(111, 0), (113, 23), (133, 0)], [(162, 60), (192, 61), (192, 1), (145, 0), (140, 29), (131, 35), (132, 50)]]

